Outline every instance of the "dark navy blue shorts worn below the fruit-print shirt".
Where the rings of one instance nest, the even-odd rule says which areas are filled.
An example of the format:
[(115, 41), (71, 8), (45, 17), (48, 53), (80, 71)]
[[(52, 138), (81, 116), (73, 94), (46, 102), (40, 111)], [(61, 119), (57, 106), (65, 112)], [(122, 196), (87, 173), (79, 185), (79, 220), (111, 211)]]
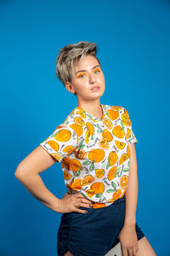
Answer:
[[(109, 207), (79, 207), (88, 213), (63, 213), (57, 236), (57, 252), (63, 256), (68, 250), (74, 256), (104, 256), (119, 242), (125, 218), (125, 196)], [(138, 240), (144, 233), (136, 224)]]

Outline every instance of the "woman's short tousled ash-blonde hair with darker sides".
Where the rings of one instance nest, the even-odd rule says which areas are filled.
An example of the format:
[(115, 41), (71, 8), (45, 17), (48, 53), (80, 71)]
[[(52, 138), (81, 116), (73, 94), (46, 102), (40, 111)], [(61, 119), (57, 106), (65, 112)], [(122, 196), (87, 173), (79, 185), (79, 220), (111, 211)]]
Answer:
[[(82, 61), (87, 55), (96, 57), (97, 44), (92, 42), (81, 41), (77, 44), (68, 44), (59, 49), (59, 55), (56, 59), (56, 75), (61, 83), (65, 86), (66, 82), (71, 82), (71, 78), (75, 78), (74, 64), (76, 61)], [(99, 62), (100, 65), (100, 62)], [(77, 95), (75, 93), (75, 95)]]

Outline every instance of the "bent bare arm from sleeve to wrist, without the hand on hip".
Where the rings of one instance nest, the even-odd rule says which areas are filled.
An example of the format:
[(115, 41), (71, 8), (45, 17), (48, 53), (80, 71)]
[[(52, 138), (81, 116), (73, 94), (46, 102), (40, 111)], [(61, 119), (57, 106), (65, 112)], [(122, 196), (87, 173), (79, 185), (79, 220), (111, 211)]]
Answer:
[(48, 152), (38, 146), (31, 154), (20, 162), (14, 176), (20, 180), (26, 189), (43, 205), (57, 212), (59, 199), (54, 196), (42, 182), (39, 173), (54, 165), (56, 160)]

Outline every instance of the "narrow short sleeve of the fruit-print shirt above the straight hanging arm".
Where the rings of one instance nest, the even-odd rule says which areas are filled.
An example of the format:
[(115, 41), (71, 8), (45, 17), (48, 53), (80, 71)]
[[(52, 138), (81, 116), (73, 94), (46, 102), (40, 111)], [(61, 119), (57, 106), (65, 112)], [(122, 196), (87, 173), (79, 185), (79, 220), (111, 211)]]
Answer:
[(126, 118), (126, 138), (127, 138), (127, 144), (130, 143), (138, 143), (139, 140), (135, 137), (134, 132), (133, 132), (133, 125), (131, 122), (131, 119), (129, 117), (129, 113), (127, 110), (124, 108), (124, 113), (125, 113), (125, 118)]

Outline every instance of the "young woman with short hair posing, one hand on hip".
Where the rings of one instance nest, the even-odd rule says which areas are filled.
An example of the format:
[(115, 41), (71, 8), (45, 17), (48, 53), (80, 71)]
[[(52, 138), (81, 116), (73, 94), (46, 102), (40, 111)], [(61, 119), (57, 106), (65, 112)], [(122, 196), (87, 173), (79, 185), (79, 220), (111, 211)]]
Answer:
[[(126, 108), (99, 102), (105, 77), (96, 50), (83, 41), (59, 50), (56, 73), (77, 96), (77, 107), (20, 162), (15, 177), (42, 204), (62, 213), (59, 256), (104, 256), (118, 241), (123, 256), (155, 256), (136, 224), (138, 140)], [(39, 176), (56, 161), (68, 188), (62, 199)]]

